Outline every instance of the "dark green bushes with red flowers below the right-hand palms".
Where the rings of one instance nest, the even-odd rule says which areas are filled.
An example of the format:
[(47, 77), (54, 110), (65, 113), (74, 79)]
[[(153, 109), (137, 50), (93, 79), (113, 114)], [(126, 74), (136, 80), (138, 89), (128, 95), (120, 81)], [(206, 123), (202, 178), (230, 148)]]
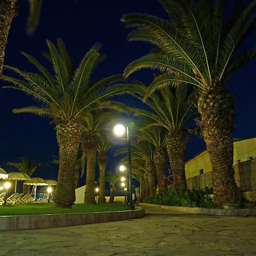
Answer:
[(143, 203), (180, 207), (214, 208), (214, 202), (209, 193), (212, 193), (212, 189), (208, 187), (188, 191), (179, 188), (168, 188), (164, 193), (144, 198)]

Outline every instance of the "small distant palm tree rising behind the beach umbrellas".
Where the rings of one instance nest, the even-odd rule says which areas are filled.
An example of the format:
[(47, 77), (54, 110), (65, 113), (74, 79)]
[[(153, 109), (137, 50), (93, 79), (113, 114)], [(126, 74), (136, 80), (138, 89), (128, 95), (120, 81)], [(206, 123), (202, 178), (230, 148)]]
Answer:
[[(20, 159), (20, 162), (9, 162), (7, 164), (9, 166), (16, 167), (20, 172), (22, 172), (23, 174), (27, 174), (30, 177), (32, 174), (34, 174), (36, 170), (38, 170), (38, 168), (48, 165), (47, 163), (36, 164), (35, 161), (30, 162), (30, 160), (23, 157), (20, 157), (19, 159)], [(23, 184), (23, 193), (24, 194), (30, 193), (30, 185)]]

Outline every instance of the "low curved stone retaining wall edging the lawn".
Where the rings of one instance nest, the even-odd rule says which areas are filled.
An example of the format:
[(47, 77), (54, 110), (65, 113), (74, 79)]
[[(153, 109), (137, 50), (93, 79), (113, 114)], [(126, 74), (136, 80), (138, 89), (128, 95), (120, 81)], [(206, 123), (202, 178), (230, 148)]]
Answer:
[(141, 218), (143, 208), (119, 212), (0, 216), (0, 231), (60, 228)]

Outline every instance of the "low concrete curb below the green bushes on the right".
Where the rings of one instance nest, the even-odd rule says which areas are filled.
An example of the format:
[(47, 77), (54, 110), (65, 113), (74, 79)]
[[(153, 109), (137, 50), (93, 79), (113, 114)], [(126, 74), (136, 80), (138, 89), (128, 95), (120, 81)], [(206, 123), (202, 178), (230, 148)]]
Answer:
[(158, 204), (145, 204), (140, 203), (141, 207), (154, 207), (165, 210), (174, 210), (176, 212), (185, 212), (192, 214), (206, 214), (206, 215), (217, 215), (217, 216), (256, 216), (256, 209), (208, 209), (208, 208), (199, 208), (199, 207), (172, 207), (167, 205), (158, 205)]

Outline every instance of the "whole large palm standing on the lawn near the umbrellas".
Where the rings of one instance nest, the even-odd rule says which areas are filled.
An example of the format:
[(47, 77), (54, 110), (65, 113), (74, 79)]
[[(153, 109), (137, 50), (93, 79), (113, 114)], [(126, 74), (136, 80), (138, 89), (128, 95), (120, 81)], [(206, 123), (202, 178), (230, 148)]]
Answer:
[(98, 44), (85, 54), (77, 68), (74, 67), (63, 41), (58, 39), (57, 44), (58, 49), (47, 40), (49, 52), (44, 54), (52, 64), (54, 76), (38, 60), (23, 52), (22, 54), (35, 65), (41, 75), (7, 67), (23, 80), (9, 76), (2, 76), (2, 79), (13, 84), (5, 88), (21, 90), (41, 103), (39, 106), (14, 109), (14, 113), (47, 116), (56, 124), (60, 167), (53, 200), (56, 207), (71, 208), (75, 201), (74, 175), (81, 139), (80, 123), (91, 110), (104, 108), (106, 98), (123, 93), (129, 87), (112, 84), (119, 76), (90, 81), (97, 64), (105, 59), (99, 52)]

